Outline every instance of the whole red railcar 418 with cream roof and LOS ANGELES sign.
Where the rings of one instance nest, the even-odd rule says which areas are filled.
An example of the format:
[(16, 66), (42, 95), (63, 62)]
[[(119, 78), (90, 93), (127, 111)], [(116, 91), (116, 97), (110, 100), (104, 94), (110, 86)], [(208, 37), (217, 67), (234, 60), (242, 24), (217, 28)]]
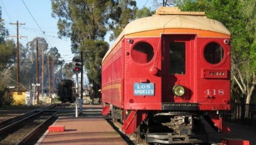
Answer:
[(102, 60), (103, 115), (161, 144), (207, 141), (201, 119), (228, 131), (230, 32), (202, 12), (159, 8), (129, 23)]

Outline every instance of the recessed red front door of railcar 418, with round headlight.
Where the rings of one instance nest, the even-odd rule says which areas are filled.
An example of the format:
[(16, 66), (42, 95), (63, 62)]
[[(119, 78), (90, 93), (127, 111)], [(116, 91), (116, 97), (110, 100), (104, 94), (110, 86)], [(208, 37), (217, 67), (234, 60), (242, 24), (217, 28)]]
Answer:
[[(163, 103), (189, 102), (191, 99), (192, 35), (168, 35), (162, 39), (162, 100)], [(177, 88), (174, 94), (174, 87)], [(182, 89), (181, 86), (184, 88)], [(183, 94), (184, 93), (184, 94)]]

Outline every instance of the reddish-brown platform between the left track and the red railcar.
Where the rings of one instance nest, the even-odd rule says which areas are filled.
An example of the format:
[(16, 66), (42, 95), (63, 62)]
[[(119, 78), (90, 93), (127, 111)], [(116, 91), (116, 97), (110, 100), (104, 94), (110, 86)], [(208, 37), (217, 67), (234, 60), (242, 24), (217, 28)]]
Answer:
[(47, 131), (37, 144), (127, 144), (104, 117), (90, 106), (83, 108), (82, 117), (59, 117), (53, 126), (64, 126), (64, 132)]

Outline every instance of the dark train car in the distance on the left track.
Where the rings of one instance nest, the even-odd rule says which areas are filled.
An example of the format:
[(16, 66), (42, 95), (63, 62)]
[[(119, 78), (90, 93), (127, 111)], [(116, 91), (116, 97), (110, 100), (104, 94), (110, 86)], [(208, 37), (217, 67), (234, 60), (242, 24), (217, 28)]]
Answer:
[(73, 87), (75, 86), (74, 82), (70, 79), (61, 80), (58, 84), (58, 97), (62, 103), (74, 103), (75, 93)]

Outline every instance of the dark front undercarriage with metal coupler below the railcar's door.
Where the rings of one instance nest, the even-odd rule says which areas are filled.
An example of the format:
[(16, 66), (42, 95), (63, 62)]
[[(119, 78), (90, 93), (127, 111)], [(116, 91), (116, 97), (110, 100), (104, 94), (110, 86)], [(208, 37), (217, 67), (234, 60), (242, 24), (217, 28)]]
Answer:
[(200, 115), (191, 112), (155, 112), (147, 115), (137, 134), (148, 143), (191, 144), (208, 141)]

